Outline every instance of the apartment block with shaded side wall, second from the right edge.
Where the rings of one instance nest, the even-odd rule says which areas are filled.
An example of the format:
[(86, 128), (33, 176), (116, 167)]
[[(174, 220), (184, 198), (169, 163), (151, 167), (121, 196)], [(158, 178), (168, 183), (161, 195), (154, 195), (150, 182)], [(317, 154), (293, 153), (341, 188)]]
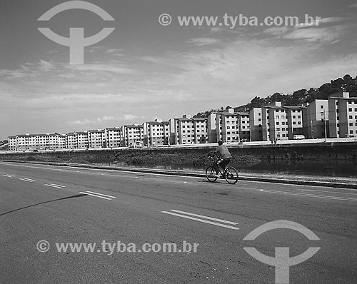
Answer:
[(308, 139), (328, 137), (328, 100), (315, 100), (303, 108), (303, 135)]

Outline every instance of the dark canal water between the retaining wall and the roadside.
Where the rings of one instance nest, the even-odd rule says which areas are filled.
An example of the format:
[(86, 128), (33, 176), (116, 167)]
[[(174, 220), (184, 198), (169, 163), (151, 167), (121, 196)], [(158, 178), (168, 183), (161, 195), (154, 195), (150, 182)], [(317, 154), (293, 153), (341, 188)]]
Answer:
[[(108, 163), (106, 163), (108, 165)], [(110, 163), (111, 166), (129, 166), (126, 163)], [(193, 167), (190, 165), (171, 166), (137, 166), (139, 168), (156, 168), (166, 170), (203, 170), (205, 166)], [(351, 160), (281, 160), (261, 161), (253, 166), (237, 167), (241, 172), (246, 173), (283, 173), (291, 175), (312, 175), (312, 176), (334, 176), (357, 178), (357, 161)]]

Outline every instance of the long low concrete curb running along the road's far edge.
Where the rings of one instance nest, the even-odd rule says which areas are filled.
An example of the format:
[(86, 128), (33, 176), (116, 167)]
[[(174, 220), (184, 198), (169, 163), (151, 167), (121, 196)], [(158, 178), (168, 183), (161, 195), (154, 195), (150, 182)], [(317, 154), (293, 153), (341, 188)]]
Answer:
[[(11, 160), (0, 160), (6, 163), (32, 163), (48, 166), (64, 166), (64, 167), (74, 167), (74, 168), (94, 168), (100, 170), (111, 170), (111, 171), (126, 171), (132, 173), (156, 173), (168, 176), (192, 176), (198, 178), (206, 178), (206, 175), (199, 172), (191, 171), (171, 171), (171, 170), (155, 170), (150, 168), (117, 168), (111, 166), (95, 166), (90, 164), (78, 164), (78, 163), (51, 163), (51, 162), (36, 162), (36, 161), (11, 161)], [(282, 179), (282, 178), (259, 178), (254, 176), (239, 176), (239, 181), (260, 181), (264, 183), (283, 183), (283, 184), (296, 184), (301, 186), (323, 186), (329, 188), (352, 188), (357, 189), (357, 183), (340, 183), (340, 182), (328, 182), (328, 181), (302, 181), (302, 180), (292, 180), (292, 179)]]

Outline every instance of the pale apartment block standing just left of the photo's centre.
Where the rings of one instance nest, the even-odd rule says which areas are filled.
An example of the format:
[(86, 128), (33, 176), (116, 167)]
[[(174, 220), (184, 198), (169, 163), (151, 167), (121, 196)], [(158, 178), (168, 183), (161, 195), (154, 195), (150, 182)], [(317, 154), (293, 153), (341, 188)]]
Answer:
[(169, 144), (169, 121), (148, 121), (143, 123), (144, 145), (158, 146)]

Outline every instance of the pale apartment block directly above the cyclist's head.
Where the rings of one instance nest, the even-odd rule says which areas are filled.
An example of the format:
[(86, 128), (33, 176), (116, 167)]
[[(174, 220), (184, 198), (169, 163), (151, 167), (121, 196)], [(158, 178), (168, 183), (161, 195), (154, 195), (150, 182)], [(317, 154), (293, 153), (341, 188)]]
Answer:
[(238, 114), (233, 108), (216, 113), (216, 139), (223, 142), (238, 142), (239, 138)]

